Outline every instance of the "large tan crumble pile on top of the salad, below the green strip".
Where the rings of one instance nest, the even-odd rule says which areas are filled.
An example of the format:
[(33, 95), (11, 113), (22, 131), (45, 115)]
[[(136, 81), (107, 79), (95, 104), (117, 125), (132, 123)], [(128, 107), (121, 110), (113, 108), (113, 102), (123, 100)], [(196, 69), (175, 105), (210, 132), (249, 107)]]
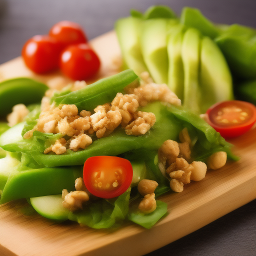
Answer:
[[(76, 90), (86, 86), (84, 81), (76, 81), (69, 89)], [(128, 135), (143, 135), (155, 123), (155, 115), (151, 112), (137, 111), (139, 106), (148, 102), (160, 100), (162, 102), (180, 105), (181, 101), (170, 91), (166, 84), (152, 82), (147, 72), (141, 74), (140, 86), (128, 88), (127, 94), (118, 92), (111, 103), (95, 107), (94, 113), (86, 109), (78, 112), (76, 105), (64, 104), (55, 106), (50, 104), (50, 97), (55, 90), (48, 90), (41, 101), (41, 113), (37, 124), (27, 131), (23, 138), (30, 138), (34, 130), (45, 133), (62, 133), (70, 137), (58, 139), (47, 147), (44, 153), (54, 152), (62, 154), (67, 149), (77, 151), (92, 143), (91, 135), (97, 138), (109, 135), (117, 126), (125, 129)]]

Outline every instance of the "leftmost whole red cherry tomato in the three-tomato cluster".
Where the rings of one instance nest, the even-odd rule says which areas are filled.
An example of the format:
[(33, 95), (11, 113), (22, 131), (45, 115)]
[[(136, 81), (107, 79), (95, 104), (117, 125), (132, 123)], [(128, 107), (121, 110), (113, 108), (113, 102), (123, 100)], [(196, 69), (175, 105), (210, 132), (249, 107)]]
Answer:
[(48, 35), (35, 35), (27, 40), (21, 55), (28, 68), (45, 73), (58, 67), (61, 47)]

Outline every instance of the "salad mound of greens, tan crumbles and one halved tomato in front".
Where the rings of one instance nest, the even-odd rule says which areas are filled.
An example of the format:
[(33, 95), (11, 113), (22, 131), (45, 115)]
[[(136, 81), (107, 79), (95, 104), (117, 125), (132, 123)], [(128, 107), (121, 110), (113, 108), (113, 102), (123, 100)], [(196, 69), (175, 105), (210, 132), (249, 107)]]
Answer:
[(51, 219), (150, 228), (167, 212), (159, 195), (202, 179), (205, 162), (216, 169), (237, 159), (218, 132), (148, 73), (127, 69), (80, 83), (78, 90), (46, 91), (30, 111), (13, 108), (9, 120), (24, 108), (26, 117), (0, 136), (0, 203), (30, 198)]

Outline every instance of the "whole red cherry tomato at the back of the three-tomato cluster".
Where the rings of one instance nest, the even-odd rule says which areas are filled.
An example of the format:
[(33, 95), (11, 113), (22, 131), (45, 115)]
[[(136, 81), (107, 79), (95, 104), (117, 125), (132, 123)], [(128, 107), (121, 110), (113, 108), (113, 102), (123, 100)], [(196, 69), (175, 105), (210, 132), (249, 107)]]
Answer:
[(49, 30), (49, 36), (56, 39), (63, 46), (87, 42), (87, 38), (81, 26), (67, 20), (60, 21), (53, 25)]

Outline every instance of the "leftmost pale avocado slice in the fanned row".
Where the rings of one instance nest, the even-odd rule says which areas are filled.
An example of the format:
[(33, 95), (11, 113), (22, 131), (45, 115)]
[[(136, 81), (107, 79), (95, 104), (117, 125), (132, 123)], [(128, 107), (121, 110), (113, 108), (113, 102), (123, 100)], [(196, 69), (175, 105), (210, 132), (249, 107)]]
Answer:
[(125, 64), (139, 75), (146, 71), (139, 44), (141, 19), (137, 17), (120, 18), (115, 23), (115, 31)]

